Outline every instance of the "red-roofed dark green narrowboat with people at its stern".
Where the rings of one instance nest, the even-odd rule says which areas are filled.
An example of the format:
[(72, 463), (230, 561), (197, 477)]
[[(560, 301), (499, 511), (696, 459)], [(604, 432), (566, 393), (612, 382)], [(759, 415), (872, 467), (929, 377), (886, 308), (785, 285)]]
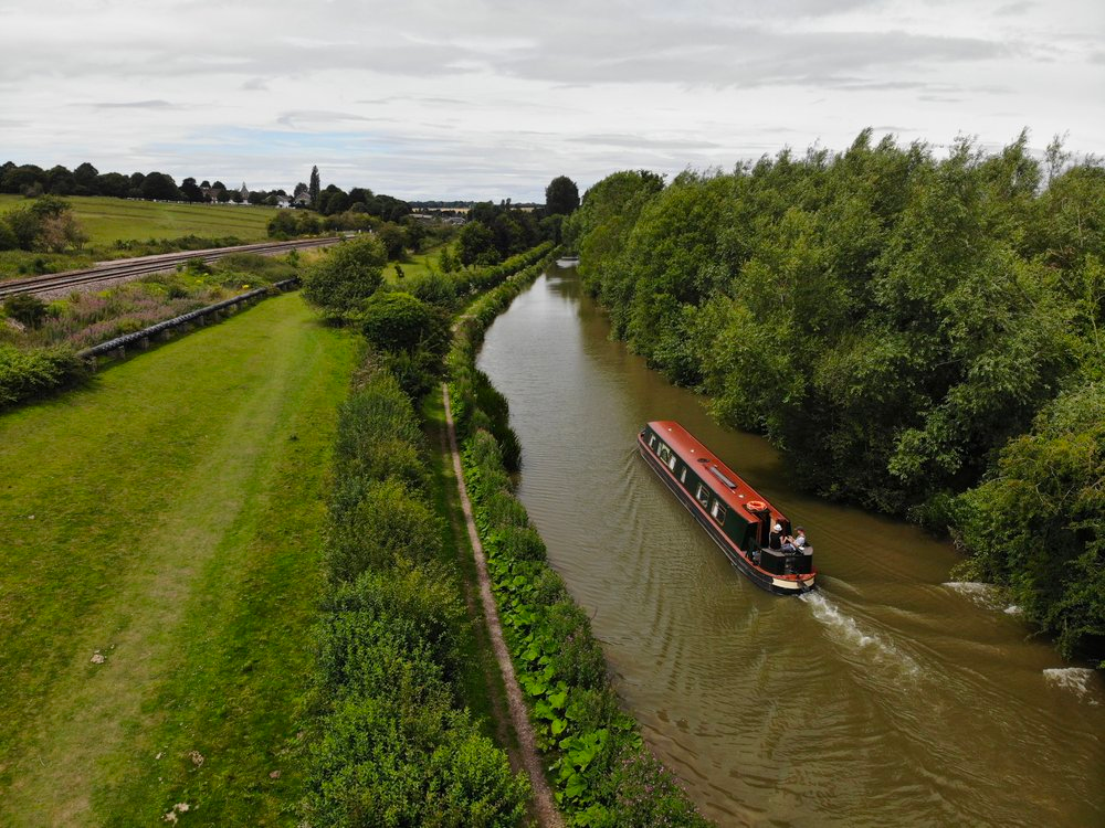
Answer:
[(813, 548), (785, 543), (790, 521), (678, 423), (657, 420), (636, 436), (641, 456), (725, 556), (776, 595), (814, 586)]

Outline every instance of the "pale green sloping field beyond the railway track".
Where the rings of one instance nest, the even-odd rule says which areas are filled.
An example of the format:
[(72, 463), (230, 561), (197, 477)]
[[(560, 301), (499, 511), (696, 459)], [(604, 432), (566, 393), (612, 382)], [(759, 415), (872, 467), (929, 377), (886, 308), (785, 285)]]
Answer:
[[(104, 195), (70, 195), (88, 243), (108, 247), (116, 241), (238, 236), (243, 242), (267, 238), (265, 225), (276, 208), (252, 204), (176, 204), (128, 201)], [(28, 203), (22, 195), (0, 194), (0, 213)]]

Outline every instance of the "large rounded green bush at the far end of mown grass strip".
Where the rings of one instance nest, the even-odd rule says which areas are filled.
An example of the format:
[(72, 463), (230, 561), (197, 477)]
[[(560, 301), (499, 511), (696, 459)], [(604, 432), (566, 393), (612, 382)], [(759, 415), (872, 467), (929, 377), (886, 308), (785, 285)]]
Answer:
[(355, 314), (383, 283), (383, 245), (358, 236), (337, 245), (303, 274), (303, 295), (335, 317)]

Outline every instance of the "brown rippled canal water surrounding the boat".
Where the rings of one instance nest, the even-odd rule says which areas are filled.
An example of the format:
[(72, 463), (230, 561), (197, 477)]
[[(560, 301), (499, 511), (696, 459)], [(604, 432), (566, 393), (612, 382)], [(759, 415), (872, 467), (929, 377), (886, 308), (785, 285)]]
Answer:
[[(519, 495), (593, 617), (657, 756), (720, 825), (1105, 826), (1105, 682), (1015, 607), (948, 582), (914, 527), (803, 495), (766, 440), (720, 428), (608, 339), (571, 269), (492, 326)], [(686, 425), (806, 527), (821, 588), (776, 597), (726, 561), (636, 454)]]

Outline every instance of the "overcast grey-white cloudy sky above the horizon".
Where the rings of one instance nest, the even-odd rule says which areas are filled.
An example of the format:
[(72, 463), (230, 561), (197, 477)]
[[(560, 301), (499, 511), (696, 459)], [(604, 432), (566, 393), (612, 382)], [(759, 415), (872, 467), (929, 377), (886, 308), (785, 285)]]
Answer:
[(1103, 0), (0, 0), (0, 162), (544, 201), (876, 138), (1105, 156)]

